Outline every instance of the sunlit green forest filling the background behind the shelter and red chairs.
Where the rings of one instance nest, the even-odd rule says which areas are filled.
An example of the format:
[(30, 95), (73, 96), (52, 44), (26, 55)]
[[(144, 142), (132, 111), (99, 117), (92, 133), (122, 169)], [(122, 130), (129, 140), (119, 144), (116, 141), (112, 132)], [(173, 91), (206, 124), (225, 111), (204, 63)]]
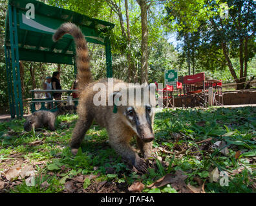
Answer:
[[(164, 70), (174, 68), (179, 75), (205, 71), (206, 76), (224, 82), (240, 82), (246, 80), (240, 77), (256, 74), (255, 1), (227, 1), (228, 19), (220, 18), (220, 5), (225, 2), (219, 0), (42, 1), (115, 24), (110, 35), (113, 75), (118, 79), (164, 82)], [(7, 1), (1, 0), (0, 6), (0, 106), (8, 108), (3, 48)], [(147, 33), (146, 39), (142, 32)], [(89, 50), (94, 79), (105, 77), (105, 48), (89, 44)], [(23, 66), (23, 99), (31, 98), (29, 90), (42, 88), (45, 77), (55, 70), (61, 71), (64, 89), (74, 81), (71, 66), (40, 62), (23, 62)]]

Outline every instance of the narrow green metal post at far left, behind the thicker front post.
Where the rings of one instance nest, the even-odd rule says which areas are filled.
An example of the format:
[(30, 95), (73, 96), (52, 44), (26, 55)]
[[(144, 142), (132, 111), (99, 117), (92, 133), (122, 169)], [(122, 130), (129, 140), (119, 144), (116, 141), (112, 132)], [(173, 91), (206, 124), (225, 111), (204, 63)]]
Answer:
[(11, 114), (11, 118), (14, 118), (15, 108), (14, 108), (14, 95), (12, 92), (12, 70), (10, 66), (10, 46), (5, 46), (5, 64), (6, 64), (6, 80), (7, 80), (9, 105), (10, 105), (10, 114)]

